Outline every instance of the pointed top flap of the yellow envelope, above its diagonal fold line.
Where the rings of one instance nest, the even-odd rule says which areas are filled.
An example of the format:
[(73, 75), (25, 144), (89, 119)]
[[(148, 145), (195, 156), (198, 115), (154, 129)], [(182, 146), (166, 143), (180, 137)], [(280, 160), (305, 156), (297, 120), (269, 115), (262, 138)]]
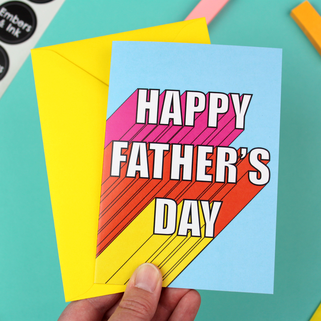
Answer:
[(108, 85), (113, 40), (211, 43), (205, 18), (199, 18), (45, 48), (58, 53)]

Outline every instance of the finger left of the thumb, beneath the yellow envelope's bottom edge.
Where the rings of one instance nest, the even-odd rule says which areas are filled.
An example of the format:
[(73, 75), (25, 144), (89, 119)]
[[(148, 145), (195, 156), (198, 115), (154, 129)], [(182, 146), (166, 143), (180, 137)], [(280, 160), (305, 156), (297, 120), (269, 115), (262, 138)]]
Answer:
[(96, 321), (101, 320), (122, 293), (108, 294), (101, 297), (70, 302), (58, 321)]

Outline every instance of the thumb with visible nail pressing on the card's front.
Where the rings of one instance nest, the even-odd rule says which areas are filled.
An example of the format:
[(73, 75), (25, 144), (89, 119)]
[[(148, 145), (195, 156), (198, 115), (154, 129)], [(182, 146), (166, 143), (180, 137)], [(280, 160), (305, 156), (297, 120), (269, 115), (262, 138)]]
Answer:
[(160, 298), (162, 275), (158, 267), (144, 263), (129, 279), (123, 298), (109, 321), (149, 321)]

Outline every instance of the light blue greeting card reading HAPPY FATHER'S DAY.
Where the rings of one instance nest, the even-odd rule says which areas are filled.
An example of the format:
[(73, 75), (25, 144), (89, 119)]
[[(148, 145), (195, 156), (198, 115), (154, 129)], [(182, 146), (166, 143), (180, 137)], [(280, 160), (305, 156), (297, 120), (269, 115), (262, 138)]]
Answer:
[(114, 41), (96, 283), (273, 293), (282, 49)]

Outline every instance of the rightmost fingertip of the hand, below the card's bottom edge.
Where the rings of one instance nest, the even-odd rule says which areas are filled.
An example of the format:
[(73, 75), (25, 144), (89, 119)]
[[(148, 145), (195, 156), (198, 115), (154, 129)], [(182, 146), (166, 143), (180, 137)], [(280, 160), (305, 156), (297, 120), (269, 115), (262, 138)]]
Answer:
[(196, 290), (188, 291), (178, 302), (169, 320), (193, 321), (201, 305), (201, 296)]

